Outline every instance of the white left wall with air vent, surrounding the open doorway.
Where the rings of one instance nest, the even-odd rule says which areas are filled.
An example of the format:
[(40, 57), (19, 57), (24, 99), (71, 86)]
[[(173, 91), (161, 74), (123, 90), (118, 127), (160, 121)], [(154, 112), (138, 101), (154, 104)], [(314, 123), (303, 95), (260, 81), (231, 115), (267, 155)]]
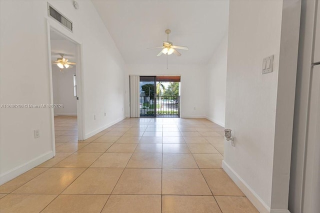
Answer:
[[(124, 62), (91, 1), (78, 1), (77, 10), (72, 0), (49, 3), (73, 21), (73, 33), (47, 16), (47, 1), (0, 1), (0, 103), (50, 103), (48, 20), (81, 44), (88, 137), (124, 117)], [(52, 157), (51, 109), (1, 108), (0, 116), (3, 183)]]

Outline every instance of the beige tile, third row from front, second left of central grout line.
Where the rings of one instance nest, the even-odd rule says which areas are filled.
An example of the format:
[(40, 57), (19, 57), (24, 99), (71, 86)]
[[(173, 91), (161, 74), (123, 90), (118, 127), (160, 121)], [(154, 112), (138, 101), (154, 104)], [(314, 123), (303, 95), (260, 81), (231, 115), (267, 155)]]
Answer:
[(124, 168), (131, 155), (131, 153), (103, 153), (90, 167)]

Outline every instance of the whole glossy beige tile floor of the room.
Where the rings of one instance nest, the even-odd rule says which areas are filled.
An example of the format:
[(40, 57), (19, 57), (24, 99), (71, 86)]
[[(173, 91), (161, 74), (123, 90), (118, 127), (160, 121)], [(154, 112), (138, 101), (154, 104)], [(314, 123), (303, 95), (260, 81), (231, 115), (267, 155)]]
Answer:
[(0, 212), (258, 212), (221, 169), (223, 128), (126, 118), (77, 140), (55, 117), (56, 156), (0, 186)]

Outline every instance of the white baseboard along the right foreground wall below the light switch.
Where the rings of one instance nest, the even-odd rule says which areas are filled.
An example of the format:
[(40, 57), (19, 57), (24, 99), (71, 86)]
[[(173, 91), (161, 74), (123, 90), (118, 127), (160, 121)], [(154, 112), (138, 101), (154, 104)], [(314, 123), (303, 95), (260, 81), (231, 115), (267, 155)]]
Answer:
[(222, 168), (260, 213), (277, 212), (270, 211), (270, 207), (265, 204), (265, 202), (253, 191), (253, 189), (224, 160), (222, 160)]

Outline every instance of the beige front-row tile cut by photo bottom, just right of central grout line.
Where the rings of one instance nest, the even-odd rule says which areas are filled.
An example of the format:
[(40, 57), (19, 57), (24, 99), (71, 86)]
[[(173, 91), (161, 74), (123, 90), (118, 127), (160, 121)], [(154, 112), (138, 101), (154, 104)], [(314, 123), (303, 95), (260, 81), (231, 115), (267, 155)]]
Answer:
[(213, 196), (162, 196), (162, 213), (221, 213)]

